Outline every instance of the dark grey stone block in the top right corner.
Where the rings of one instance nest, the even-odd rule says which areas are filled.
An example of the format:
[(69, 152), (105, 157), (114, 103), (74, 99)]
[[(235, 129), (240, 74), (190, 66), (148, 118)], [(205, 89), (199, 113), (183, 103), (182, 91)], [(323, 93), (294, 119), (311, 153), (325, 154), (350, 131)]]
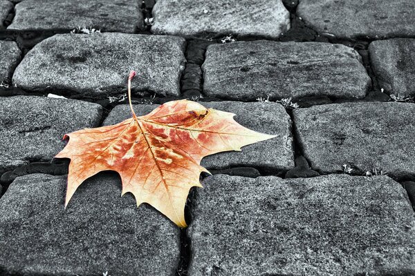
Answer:
[(414, 37), (413, 0), (300, 0), (297, 14), (320, 33), (347, 38)]

